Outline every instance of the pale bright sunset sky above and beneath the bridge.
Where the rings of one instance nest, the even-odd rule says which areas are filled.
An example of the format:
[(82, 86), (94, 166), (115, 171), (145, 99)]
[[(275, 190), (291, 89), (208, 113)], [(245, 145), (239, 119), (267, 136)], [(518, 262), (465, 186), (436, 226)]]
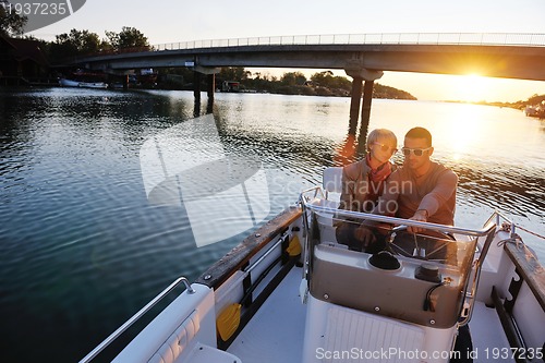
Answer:
[[(55, 40), (71, 29), (106, 38), (123, 26), (150, 45), (257, 36), (376, 33), (545, 34), (545, 0), (87, 0), (72, 15), (29, 33)], [(264, 70), (249, 69), (251, 72)], [(320, 70), (265, 70), (270, 75)], [(336, 75), (346, 76), (343, 71)], [(545, 82), (385, 72), (377, 83), (422, 100), (517, 101), (545, 94)]]

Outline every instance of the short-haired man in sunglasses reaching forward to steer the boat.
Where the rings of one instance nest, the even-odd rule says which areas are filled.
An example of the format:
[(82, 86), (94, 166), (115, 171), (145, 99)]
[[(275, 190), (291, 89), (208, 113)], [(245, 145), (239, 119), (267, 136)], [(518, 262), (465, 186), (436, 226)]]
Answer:
[[(449, 226), (455, 223), (458, 177), (452, 170), (431, 160), (434, 153), (432, 145), (432, 134), (426, 129), (409, 130), (401, 148), (404, 155), (403, 166), (388, 179), (374, 214)], [(420, 233), (425, 230), (409, 227), (408, 231)], [(360, 233), (365, 245), (376, 241), (375, 233), (366, 228), (362, 228)], [(427, 231), (425, 233), (433, 234)], [(436, 242), (425, 243), (427, 252), (437, 250), (437, 246)], [(436, 255), (428, 258), (446, 259), (448, 253), (448, 259), (456, 261), (456, 256), (450, 256), (452, 251), (441, 250), (444, 251), (436, 252)], [(412, 247), (408, 247), (405, 252), (412, 253)]]

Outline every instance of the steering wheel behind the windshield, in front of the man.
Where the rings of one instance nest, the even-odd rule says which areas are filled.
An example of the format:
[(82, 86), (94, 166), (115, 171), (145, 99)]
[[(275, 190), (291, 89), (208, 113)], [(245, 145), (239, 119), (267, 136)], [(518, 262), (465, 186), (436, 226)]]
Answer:
[(393, 255), (436, 261), (449, 265), (457, 264), (457, 245), (452, 234), (427, 230), (427, 234), (407, 231), (407, 226), (398, 226), (386, 235), (386, 250)]

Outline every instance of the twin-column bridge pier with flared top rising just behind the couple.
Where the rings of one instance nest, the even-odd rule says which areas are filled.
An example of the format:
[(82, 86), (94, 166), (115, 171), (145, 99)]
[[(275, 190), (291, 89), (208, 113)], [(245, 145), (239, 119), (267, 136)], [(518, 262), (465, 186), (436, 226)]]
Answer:
[(373, 100), (373, 86), (375, 81), (383, 76), (383, 71), (372, 71), (366, 69), (346, 69), (344, 72), (352, 77), (352, 95), (350, 100), (350, 125), (349, 134), (355, 135), (358, 128), (358, 118), (360, 111), (360, 102), (362, 97), (362, 82), (363, 85), (363, 107), (361, 112), (362, 123), (360, 125), (359, 148), (364, 150), (365, 138), (367, 137), (367, 129), (371, 118), (371, 104)]

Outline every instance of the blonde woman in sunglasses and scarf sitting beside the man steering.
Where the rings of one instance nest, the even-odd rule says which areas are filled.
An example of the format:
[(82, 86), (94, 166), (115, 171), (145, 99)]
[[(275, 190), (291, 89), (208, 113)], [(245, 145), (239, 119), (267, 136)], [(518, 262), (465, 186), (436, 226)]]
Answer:
[[(398, 140), (390, 130), (376, 129), (367, 135), (367, 154), (363, 160), (350, 164), (342, 169), (342, 192), (340, 209), (370, 213), (383, 193), (386, 179), (396, 169), (390, 162), (397, 152)], [(359, 223), (338, 221), (336, 223), (337, 242), (350, 250), (376, 252), (377, 245), (364, 245), (359, 239)]]

